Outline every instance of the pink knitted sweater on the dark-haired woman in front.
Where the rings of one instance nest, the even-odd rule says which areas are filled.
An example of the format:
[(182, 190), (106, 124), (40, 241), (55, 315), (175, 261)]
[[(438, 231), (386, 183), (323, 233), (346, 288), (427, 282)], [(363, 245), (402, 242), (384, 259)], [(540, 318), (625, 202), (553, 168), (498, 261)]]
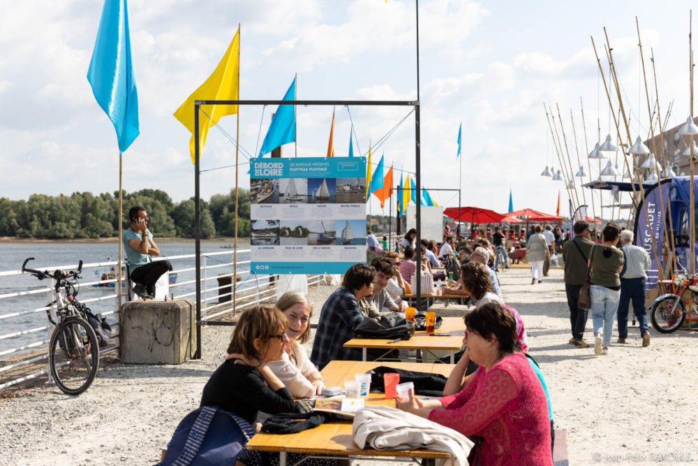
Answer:
[(523, 353), (505, 356), (490, 370), (480, 367), (445, 407), (429, 419), (463, 435), (482, 437), (483, 465), (552, 465), (548, 403)]

